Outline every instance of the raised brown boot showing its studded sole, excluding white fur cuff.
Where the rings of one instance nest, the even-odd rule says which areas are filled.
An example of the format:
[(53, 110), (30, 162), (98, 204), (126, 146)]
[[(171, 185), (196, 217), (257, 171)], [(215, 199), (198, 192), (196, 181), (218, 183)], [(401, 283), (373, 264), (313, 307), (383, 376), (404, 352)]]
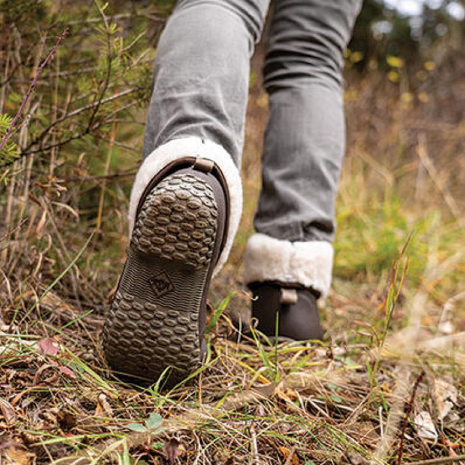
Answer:
[(173, 386), (199, 367), (227, 218), (228, 191), (213, 162), (183, 158), (147, 186), (104, 327), (116, 372), (155, 382), (169, 368), (162, 384)]

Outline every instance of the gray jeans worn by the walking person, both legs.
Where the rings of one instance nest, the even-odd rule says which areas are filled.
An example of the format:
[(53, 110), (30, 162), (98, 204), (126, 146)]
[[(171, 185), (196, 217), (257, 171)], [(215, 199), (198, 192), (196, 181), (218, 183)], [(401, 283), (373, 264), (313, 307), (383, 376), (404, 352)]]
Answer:
[[(343, 51), (362, 0), (277, 0), (264, 65), (270, 117), (257, 232), (331, 241), (344, 155)], [(143, 156), (169, 140), (244, 141), (250, 57), (269, 0), (179, 0), (157, 48)]]

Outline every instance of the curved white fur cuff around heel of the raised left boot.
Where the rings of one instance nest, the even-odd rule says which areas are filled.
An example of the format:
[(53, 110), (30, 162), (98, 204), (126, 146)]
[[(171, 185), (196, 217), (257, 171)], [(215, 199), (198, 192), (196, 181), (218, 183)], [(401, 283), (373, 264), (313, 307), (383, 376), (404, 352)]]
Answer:
[(156, 148), (142, 163), (136, 175), (129, 202), (129, 236), (131, 237), (136, 220), (140, 196), (152, 178), (169, 163), (184, 157), (207, 158), (214, 162), (225, 177), (230, 196), (229, 226), (226, 243), (213, 274), (220, 271), (231, 251), (232, 242), (239, 226), (242, 213), (242, 183), (239, 171), (231, 155), (214, 142), (198, 137), (174, 139)]

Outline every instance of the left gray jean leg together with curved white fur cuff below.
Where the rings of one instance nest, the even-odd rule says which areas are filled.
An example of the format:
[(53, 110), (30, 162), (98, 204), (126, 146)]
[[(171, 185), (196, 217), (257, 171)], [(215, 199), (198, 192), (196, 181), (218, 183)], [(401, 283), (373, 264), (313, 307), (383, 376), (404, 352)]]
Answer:
[(250, 56), (269, 0), (179, 0), (160, 38), (148, 110), (143, 163), (129, 202), (129, 233), (153, 177), (194, 156), (213, 161), (229, 193), (226, 262), (242, 210), (238, 172), (244, 139)]

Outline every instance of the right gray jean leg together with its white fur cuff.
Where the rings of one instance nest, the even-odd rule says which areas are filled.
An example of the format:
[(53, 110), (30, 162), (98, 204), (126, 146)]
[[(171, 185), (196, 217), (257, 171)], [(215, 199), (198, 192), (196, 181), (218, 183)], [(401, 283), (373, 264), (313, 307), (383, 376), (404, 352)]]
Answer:
[(326, 294), (344, 155), (343, 51), (361, 0), (278, 0), (264, 66), (270, 119), (245, 279)]

